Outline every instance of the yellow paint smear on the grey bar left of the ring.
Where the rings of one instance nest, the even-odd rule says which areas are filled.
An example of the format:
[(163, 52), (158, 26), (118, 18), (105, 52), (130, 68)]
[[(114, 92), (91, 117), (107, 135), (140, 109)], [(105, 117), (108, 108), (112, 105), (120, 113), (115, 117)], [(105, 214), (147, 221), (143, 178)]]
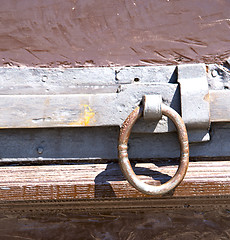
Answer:
[(84, 109), (83, 113), (81, 114), (81, 117), (78, 121), (74, 121), (69, 123), (69, 125), (72, 126), (89, 126), (90, 123), (95, 122), (95, 112), (93, 109), (87, 105), (87, 104), (82, 104), (81, 105)]

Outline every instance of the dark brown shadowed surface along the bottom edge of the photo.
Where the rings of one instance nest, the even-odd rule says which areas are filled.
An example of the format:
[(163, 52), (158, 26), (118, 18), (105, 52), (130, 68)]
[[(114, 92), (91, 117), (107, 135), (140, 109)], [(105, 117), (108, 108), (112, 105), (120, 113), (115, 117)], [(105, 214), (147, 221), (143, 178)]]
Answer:
[(1, 216), (0, 239), (227, 240), (230, 210)]

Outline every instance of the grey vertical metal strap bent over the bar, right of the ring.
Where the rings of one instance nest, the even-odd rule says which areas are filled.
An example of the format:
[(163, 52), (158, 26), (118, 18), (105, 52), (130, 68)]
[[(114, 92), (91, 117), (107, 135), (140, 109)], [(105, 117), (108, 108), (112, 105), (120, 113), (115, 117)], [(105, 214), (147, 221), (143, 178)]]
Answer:
[(190, 142), (209, 141), (210, 105), (205, 64), (178, 66), (181, 116)]

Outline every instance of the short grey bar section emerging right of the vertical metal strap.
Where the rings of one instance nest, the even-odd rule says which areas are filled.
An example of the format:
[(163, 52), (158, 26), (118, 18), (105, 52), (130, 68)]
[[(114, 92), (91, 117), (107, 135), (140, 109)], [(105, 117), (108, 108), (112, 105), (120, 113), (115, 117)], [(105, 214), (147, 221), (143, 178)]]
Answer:
[(209, 91), (211, 122), (230, 122), (230, 91)]

